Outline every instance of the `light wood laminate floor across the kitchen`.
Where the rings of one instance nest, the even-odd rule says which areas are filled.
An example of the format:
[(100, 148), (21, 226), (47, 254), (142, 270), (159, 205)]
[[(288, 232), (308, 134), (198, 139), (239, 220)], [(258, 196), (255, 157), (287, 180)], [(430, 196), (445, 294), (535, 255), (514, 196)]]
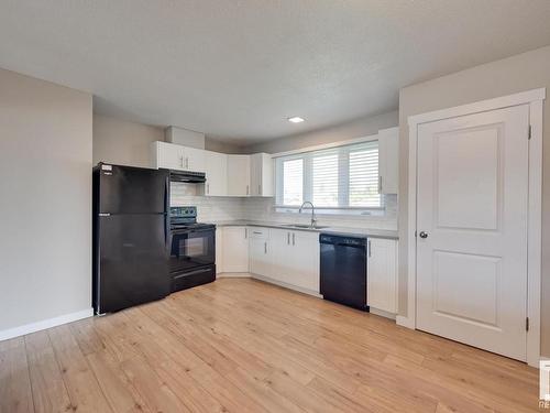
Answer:
[(538, 371), (246, 279), (0, 341), (1, 412), (527, 412)]

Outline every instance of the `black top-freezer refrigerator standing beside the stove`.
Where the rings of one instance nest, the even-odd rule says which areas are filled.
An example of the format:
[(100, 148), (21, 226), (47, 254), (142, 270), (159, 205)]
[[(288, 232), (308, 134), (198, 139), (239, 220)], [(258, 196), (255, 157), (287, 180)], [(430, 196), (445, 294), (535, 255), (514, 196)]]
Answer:
[(168, 171), (99, 163), (92, 176), (96, 314), (165, 297)]

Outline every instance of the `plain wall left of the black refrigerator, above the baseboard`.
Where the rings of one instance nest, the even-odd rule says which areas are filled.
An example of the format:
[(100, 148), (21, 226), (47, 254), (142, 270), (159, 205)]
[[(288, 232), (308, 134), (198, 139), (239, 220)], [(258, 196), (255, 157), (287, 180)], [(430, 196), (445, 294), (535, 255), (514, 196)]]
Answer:
[(91, 314), (91, 95), (0, 69), (0, 336)]

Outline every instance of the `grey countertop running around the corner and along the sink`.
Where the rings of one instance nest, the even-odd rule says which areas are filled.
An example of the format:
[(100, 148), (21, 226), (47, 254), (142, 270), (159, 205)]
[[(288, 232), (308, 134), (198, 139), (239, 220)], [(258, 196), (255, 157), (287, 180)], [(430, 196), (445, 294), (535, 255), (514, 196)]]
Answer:
[(250, 227), (267, 227), (267, 228), (282, 228), (292, 229), (293, 231), (309, 231), (309, 232), (323, 232), (341, 236), (352, 237), (373, 237), (373, 238), (388, 238), (399, 239), (396, 230), (389, 229), (370, 229), (370, 228), (350, 228), (350, 227), (326, 227), (326, 228), (300, 228), (294, 227), (292, 224), (273, 222), (273, 221), (255, 221), (255, 220), (231, 220), (231, 221), (213, 221), (218, 227), (235, 227), (235, 226), (250, 226)]

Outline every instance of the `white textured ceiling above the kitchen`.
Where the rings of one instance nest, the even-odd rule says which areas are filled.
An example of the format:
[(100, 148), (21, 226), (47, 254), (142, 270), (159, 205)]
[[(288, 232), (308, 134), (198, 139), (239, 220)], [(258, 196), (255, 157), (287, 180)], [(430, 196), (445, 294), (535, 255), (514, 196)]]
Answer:
[(244, 144), (395, 109), (403, 86), (550, 44), (549, 22), (549, 0), (0, 0), (0, 67)]

